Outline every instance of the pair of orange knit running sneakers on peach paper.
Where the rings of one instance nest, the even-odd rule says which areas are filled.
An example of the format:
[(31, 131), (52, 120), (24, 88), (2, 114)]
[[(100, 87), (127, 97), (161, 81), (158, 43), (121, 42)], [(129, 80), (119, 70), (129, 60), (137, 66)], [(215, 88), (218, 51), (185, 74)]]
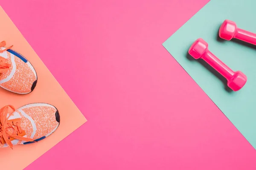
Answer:
[[(37, 84), (37, 74), (30, 62), (0, 42), (0, 87), (16, 94), (29, 94)], [(57, 108), (34, 103), (15, 110), (12, 105), (0, 109), (0, 147), (30, 144), (45, 139), (59, 126)]]

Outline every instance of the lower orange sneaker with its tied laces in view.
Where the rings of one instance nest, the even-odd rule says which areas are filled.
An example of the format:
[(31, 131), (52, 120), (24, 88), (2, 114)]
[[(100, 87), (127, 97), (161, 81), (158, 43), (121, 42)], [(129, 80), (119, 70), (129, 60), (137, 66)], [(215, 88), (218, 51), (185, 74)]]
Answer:
[(16, 111), (7, 105), (0, 109), (0, 147), (38, 142), (51, 135), (59, 124), (60, 115), (52, 105), (34, 103)]

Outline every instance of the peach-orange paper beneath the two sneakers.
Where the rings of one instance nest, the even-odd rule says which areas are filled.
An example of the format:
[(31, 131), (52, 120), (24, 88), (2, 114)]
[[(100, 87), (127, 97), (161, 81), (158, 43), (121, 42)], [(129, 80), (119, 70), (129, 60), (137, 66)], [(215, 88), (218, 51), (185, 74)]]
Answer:
[[(37, 86), (30, 94), (14, 94), (0, 88), (0, 108), (5, 105), (13, 105), (15, 108), (20, 108), (29, 103), (45, 102), (58, 108), (61, 116), (58, 129), (46, 139), (33, 144), (15, 145), (13, 150), (9, 147), (0, 148), (0, 169), (20, 170), (28, 166), (32, 161), (84, 124), (86, 119), (61, 88), (61, 85), (58, 84), (57, 80), (52, 76), (14, 23), (12, 23), (12, 20), (2, 7), (0, 7), (0, 20), (0, 41), (5, 40), (7, 43), (6, 46), (14, 45), (12, 49), (26, 57), (34, 66), (38, 75)], [(54, 56), (49, 54), (48, 57)]]

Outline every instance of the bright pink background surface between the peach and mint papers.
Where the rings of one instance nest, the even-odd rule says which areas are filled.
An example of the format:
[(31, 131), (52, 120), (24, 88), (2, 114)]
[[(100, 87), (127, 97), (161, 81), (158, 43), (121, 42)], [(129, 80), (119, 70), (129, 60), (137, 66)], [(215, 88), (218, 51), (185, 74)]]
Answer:
[(26, 170), (255, 170), (256, 150), (161, 45), (207, 2), (1, 2), (88, 119)]

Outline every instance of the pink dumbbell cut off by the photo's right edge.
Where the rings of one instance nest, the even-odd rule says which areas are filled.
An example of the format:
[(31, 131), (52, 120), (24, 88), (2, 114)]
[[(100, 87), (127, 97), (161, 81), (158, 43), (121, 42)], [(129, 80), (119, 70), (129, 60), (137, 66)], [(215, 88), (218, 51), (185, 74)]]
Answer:
[(236, 38), (256, 45), (256, 34), (237, 28), (236, 23), (230, 20), (224, 20), (219, 29), (219, 36), (224, 40)]

